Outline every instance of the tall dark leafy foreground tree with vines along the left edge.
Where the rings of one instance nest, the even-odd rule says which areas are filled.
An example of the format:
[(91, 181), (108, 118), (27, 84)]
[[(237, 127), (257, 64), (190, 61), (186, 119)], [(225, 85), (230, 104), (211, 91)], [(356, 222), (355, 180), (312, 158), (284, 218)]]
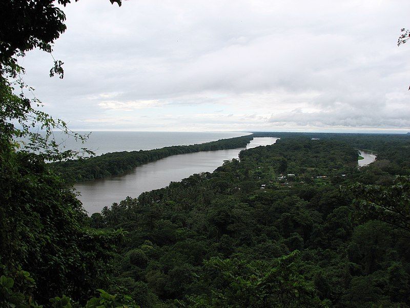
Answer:
[[(65, 6), (70, 0), (58, 3)], [(34, 48), (51, 53), (52, 43), (66, 29), (64, 12), (55, 5), (52, 0), (0, 2), (0, 263), (10, 272), (29, 271), (36, 280), (31, 292), (41, 301), (61, 293), (84, 301), (103, 281), (98, 278), (107, 272), (107, 261), (124, 234), (90, 229), (72, 189), (45, 163), (79, 154), (60, 151), (50, 138), (53, 129), (86, 138), (35, 109), (41, 103), (26, 97), (25, 90), (32, 89), (20, 78), (24, 68), (17, 56)], [(63, 78), (61, 64), (54, 62), (51, 76)], [(19, 137), (30, 141), (19, 145)]]

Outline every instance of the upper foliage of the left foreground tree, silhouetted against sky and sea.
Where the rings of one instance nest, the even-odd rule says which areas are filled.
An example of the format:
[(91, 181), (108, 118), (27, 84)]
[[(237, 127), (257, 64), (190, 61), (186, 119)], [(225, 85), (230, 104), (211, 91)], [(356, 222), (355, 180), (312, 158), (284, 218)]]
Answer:
[[(75, 0), (78, 1), (78, 0)], [(17, 63), (17, 57), (24, 56), (29, 50), (39, 48), (52, 52), (52, 44), (66, 30), (66, 16), (56, 4), (66, 6), (70, 0), (5, 0), (0, 2), (0, 136), (2, 147), (12, 143), (13, 138), (28, 137), (30, 142), (24, 149), (41, 152), (47, 160), (61, 160), (78, 155), (78, 152), (58, 150), (55, 140), (51, 139), (52, 130), (60, 129), (71, 134), (76, 140), (81, 136), (67, 128), (64, 121), (53, 119), (50, 115), (35, 109), (42, 103), (28, 99), (24, 90), (33, 91), (26, 85), (21, 74), (25, 70)], [(121, 0), (110, 0), (119, 6)], [(63, 62), (54, 60), (50, 76), (64, 76)], [(20, 94), (15, 95), (16, 88)], [(43, 136), (33, 133), (30, 128), (45, 130)], [(83, 149), (85, 150), (85, 149)], [(90, 153), (87, 152), (86, 153)]]

